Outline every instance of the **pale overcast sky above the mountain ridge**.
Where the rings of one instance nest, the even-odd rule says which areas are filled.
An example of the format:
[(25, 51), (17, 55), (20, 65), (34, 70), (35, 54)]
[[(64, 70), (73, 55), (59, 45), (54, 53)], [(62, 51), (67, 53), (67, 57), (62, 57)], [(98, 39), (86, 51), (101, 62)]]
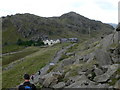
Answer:
[(118, 23), (120, 0), (1, 0), (0, 16), (31, 13), (43, 17), (74, 11), (104, 23)]

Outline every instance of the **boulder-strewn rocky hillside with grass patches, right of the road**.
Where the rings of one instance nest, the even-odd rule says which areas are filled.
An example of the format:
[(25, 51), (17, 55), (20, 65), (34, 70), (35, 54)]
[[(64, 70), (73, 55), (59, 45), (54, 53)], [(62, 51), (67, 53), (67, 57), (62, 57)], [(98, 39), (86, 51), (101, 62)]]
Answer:
[(55, 65), (49, 65), (44, 74), (41, 69), (31, 82), (45, 88), (120, 89), (119, 29), (99, 41), (69, 47)]

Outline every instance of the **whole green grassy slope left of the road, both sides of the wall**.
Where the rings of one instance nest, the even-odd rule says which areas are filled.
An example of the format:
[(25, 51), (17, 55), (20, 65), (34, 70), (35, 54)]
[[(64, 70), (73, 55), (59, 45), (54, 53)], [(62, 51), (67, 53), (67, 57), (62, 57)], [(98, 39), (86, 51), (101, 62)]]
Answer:
[(19, 64), (15, 65), (13, 68), (3, 71), (3, 88), (15, 87), (22, 83), (24, 73), (29, 73), (30, 75), (36, 73), (53, 59), (58, 50), (69, 44), (70, 43), (56, 44), (47, 48), (29, 47), (23, 51), (23, 53), (5, 56), (3, 58), (3, 61), (5, 60), (3, 67), (7, 67), (8, 65), (6, 64), (17, 61), (19, 58), (24, 57), (24, 60), (23, 62), (19, 62)]

